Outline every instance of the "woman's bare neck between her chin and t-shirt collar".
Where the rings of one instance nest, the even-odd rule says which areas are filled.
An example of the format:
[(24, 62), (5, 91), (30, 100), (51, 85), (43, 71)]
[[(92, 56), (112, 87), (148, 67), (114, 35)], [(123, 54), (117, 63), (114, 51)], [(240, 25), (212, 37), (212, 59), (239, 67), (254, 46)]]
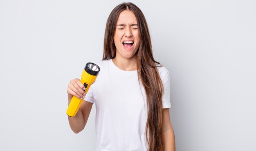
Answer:
[(121, 70), (134, 71), (137, 70), (137, 58), (134, 55), (132, 58), (115, 57), (113, 63)]

